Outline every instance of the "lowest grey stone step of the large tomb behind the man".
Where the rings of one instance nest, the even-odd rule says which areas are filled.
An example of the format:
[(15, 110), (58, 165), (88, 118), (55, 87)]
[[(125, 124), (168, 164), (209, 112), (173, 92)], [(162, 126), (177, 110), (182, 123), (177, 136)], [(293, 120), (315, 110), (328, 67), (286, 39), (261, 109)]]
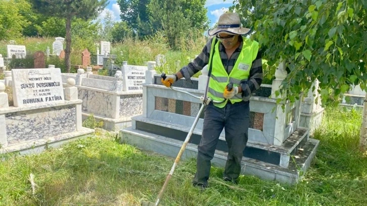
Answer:
[[(132, 127), (127, 127), (121, 130), (121, 142), (137, 146), (141, 149), (154, 151), (172, 158), (177, 156), (183, 143), (181, 140), (152, 134), (150, 132), (134, 130)], [(290, 162), (287, 168), (243, 157), (241, 173), (244, 175), (253, 175), (264, 180), (275, 180), (290, 184), (296, 183), (303, 178), (307, 168), (315, 156), (318, 144), (318, 140), (310, 138), (302, 148), (297, 150), (297, 153), (295, 153), (294, 156), (294, 162)], [(181, 161), (196, 158), (196, 156), (197, 145), (194, 143), (188, 143), (182, 154)], [(227, 152), (217, 149), (215, 151), (212, 164), (224, 167), (226, 159)]]

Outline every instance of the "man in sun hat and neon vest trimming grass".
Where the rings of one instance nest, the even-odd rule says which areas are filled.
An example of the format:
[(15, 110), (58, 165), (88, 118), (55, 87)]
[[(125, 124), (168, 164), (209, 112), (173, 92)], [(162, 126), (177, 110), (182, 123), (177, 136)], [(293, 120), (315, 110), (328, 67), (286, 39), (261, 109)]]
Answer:
[[(218, 101), (226, 99), (222, 104), (210, 102), (205, 108), (197, 172), (193, 180), (193, 184), (201, 188), (208, 186), (211, 160), (223, 128), (228, 145), (223, 179), (236, 182), (241, 172), (241, 160), (248, 140), (249, 99), (260, 88), (263, 78), (258, 42), (241, 36), (249, 31), (241, 27), (238, 14), (224, 13), (219, 18), (218, 27), (208, 31), (210, 36), (216, 36), (206, 43), (202, 53), (176, 74), (162, 79), (167, 87), (182, 77), (191, 82), (190, 78), (208, 65), (208, 96)], [(227, 91), (229, 82), (234, 87)]]

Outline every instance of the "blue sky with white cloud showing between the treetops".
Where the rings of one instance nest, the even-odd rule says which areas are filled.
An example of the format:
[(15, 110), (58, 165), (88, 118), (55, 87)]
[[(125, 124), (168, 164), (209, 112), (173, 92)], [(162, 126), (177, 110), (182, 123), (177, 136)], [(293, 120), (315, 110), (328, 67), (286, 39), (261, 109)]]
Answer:
[[(233, 5), (233, 0), (207, 0), (205, 7), (208, 9), (207, 16), (210, 21), (210, 27), (212, 27), (219, 19), (219, 16), (227, 11), (229, 7)], [(120, 7), (116, 3), (116, 0), (110, 0), (110, 4), (105, 8), (105, 10), (100, 14), (98, 19), (101, 21), (106, 16), (107, 12), (112, 13), (112, 18), (114, 21), (121, 21), (120, 19)]]

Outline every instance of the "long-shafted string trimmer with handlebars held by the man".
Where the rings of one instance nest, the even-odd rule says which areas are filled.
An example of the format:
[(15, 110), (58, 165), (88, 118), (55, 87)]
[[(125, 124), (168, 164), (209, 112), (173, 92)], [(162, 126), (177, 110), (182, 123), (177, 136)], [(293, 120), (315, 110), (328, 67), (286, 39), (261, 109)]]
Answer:
[[(163, 80), (165, 80), (165, 79), (166, 79), (166, 74), (165, 74), (165, 73), (162, 73), (161, 77), (163, 78)], [(208, 78), (208, 82), (209, 82), (209, 78)], [(186, 148), (187, 144), (189, 143), (189, 140), (190, 140), (190, 138), (191, 138), (191, 135), (192, 135), (192, 134), (193, 134), (193, 132), (194, 132), (194, 128), (196, 127), (196, 124), (198, 123), (198, 120), (199, 120), (200, 114), (201, 114), (201, 113), (202, 113), (202, 111), (204, 110), (204, 107), (205, 107), (206, 105), (208, 105), (210, 101), (213, 101), (214, 103), (222, 103), (222, 102), (224, 102), (224, 101), (226, 100), (226, 99), (224, 99), (224, 100), (222, 100), (222, 101), (216, 101), (216, 100), (212, 100), (210, 97), (207, 97), (208, 85), (209, 85), (209, 84), (208, 84), (208, 82), (207, 82), (207, 86), (206, 86), (206, 90), (205, 90), (204, 96), (201, 96), (201, 97), (199, 97), (199, 96), (195, 96), (195, 95), (193, 95), (193, 94), (191, 94), (191, 93), (189, 93), (189, 92), (187, 92), (187, 91), (180, 91), (180, 90), (177, 90), (177, 89), (175, 89), (175, 88), (172, 88), (172, 86), (170, 86), (170, 88), (171, 88), (171, 89), (173, 89), (173, 90), (175, 90), (175, 91), (183, 92), (183, 93), (187, 93), (187, 94), (189, 94), (189, 95), (191, 95), (191, 96), (194, 96), (195, 98), (200, 99), (200, 100), (202, 101), (202, 103), (203, 103), (203, 104), (201, 105), (200, 110), (199, 110), (199, 112), (198, 112), (198, 115), (196, 116), (195, 121), (194, 121), (193, 125), (191, 126), (190, 131), (189, 131), (188, 135), (186, 136), (185, 141), (183, 142), (183, 144), (182, 144), (182, 146), (181, 146), (181, 149), (180, 149), (180, 150), (179, 150), (179, 152), (178, 152), (178, 155), (177, 155), (177, 157), (176, 157), (176, 160), (174, 161), (174, 163), (173, 163), (173, 165), (172, 165), (172, 168), (171, 168), (171, 170), (169, 171), (169, 173), (168, 173), (168, 175), (167, 175), (167, 177), (166, 177), (166, 181), (164, 182), (163, 187), (162, 187), (161, 191), (159, 192), (159, 195), (158, 195), (157, 201), (156, 201), (155, 203), (154, 203), (154, 202), (148, 202), (148, 201), (142, 201), (142, 206), (158, 206), (158, 205), (159, 205), (160, 201), (162, 200), (163, 194), (164, 194), (164, 192), (165, 192), (165, 191), (166, 191), (166, 189), (167, 189), (168, 182), (169, 182), (169, 180), (171, 179), (172, 174), (173, 174), (174, 170), (176, 169), (176, 166), (177, 166), (177, 164), (178, 164), (179, 160), (181, 159), (181, 156), (182, 156), (182, 154), (183, 154), (183, 151), (185, 150), (185, 148)], [(233, 88), (233, 83), (232, 83), (232, 82), (231, 82), (231, 83), (228, 83), (228, 84), (227, 84), (227, 90), (228, 90), (228, 91), (231, 91), (231, 90), (232, 90), (232, 88)]]

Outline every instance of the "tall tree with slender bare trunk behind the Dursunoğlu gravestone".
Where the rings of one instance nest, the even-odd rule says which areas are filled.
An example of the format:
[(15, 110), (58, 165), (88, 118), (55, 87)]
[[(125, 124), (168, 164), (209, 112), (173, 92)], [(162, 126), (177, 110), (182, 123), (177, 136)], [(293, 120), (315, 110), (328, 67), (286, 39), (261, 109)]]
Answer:
[(38, 13), (66, 20), (65, 65), (70, 72), (71, 22), (75, 18), (95, 19), (108, 5), (107, 0), (30, 0)]

